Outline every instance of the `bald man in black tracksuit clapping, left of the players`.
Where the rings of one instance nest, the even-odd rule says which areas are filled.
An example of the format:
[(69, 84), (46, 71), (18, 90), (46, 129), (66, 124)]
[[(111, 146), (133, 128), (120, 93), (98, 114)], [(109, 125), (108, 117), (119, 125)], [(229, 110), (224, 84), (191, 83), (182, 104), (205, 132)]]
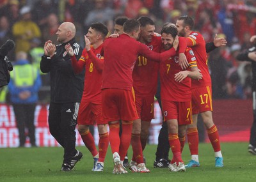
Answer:
[(64, 148), (64, 160), (61, 171), (71, 171), (83, 157), (76, 150), (77, 114), (83, 93), (84, 73), (76, 75), (72, 70), (71, 60), (65, 45), (70, 43), (77, 60), (83, 48), (75, 40), (76, 27), (71, 22), (64, 22), (56, 33), (60, 45), (45, 42), (44, 56), (40, 62), (43, 73), (51, 73), (51, 103), (49, 107), (49, 130), (52, 136)]

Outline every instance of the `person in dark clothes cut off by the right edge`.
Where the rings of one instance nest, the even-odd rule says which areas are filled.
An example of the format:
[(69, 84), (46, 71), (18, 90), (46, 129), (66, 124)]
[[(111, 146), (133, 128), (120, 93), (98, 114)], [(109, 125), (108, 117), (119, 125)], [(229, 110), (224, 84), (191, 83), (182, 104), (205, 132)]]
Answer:
[(256, 35), (250, 38), (253, 47), (237, 55), (238, 61), (250, 61), (252, 63), (252, 101), (253, 101), (253, 123), (250, 133), (248, 152), (256, 155)]

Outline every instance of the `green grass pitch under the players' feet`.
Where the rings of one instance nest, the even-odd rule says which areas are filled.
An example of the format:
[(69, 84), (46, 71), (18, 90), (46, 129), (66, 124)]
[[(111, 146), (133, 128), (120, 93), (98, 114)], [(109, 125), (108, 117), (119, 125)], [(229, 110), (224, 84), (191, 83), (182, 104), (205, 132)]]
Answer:
[[(117, 175), (112, 174), (110, 148), (106, 156), (104, 172), (92, 172), (92, 156), (85, 147), (77, 147), (84, 156), (71, 172), (60, 172), (63, 148), (1, 148), (0, 181), (255, 181), (256, 156), (248, 153), (247, 147), (248, 144), (244, 142), (222, 143), (221, 151), (225, 166), (216, 168), (211, 144), (200, 144), (200, 167), (187, 169), (186, 172), (170, 172), (168, 169), (153, 167), (156, 145), (148, 145), (145, 149), (145, 157), (150, 173), (139, 174), (129, 171), (128, 174)], [(131, 147), (128, 155), (131, 159)], [(171, 152), (170, 156), (172, 156)], [(185, 163), (190, 160), (188, 144), (185, 145), (182, 158)]]

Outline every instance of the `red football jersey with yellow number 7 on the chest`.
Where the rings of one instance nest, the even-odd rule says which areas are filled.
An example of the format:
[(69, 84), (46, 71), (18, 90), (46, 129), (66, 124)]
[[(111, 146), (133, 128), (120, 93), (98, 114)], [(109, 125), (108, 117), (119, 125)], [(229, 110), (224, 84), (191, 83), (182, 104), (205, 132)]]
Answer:
[[(163, 50), (164, 51), (164, 50)], [(189, 68), (196, 66), (196, 57), (189, 47), (185, 50)], [(189, 69), (188, 68), (188, 69)], [(161, 99), (174, 102), (191, 101), (191, 78), (186, 77), (182, 82), (176, 82), (176, 73), (182, 71), (179, 66), (179, 54), (160, 63)]]

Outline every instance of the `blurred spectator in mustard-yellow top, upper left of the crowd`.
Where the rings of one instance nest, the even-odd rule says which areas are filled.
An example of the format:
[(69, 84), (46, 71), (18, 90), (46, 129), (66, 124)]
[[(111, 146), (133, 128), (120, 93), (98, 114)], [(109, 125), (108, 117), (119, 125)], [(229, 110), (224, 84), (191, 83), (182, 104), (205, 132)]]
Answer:
[(12, 33), (15, 39), (15, 52), (29, 52), (30, 40), (40, 38), (41, 31), (39, 27), (31, 20), (31, 8), (24, 6), (20, 9), (20, 20), (13, 24)]

